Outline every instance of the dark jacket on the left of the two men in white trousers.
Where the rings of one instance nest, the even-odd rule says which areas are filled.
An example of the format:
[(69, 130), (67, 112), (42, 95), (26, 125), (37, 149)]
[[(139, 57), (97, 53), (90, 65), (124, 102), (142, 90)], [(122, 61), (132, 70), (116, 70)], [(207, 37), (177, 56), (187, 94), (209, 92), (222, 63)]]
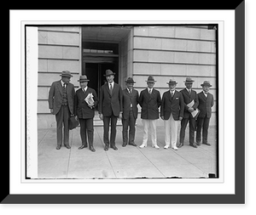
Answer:
[(160, 92), (153, 88), (151, 94), (148, 88), (144, 89), (139, 97), (139, 104), (142, 107), (142, 119), (156, 120), (159, 118), (159, 107), (161, 105)]

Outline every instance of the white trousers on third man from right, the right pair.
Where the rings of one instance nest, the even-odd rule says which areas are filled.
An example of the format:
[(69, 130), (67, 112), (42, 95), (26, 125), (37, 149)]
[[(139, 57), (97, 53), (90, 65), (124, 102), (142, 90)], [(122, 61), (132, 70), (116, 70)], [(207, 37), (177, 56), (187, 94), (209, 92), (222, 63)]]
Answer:
[[(165, 122), (166, 146), (170, 146), (170, 143), (172, 143), (172, 147), (174, 147), (177, 144), (177, 126), (179, 121), (175, 121), (171, 113), (170, 118), (168, 120), (165, 120), (164, 122)], [(171, 138), (170, 138), (170, 134), (171, 134)]]

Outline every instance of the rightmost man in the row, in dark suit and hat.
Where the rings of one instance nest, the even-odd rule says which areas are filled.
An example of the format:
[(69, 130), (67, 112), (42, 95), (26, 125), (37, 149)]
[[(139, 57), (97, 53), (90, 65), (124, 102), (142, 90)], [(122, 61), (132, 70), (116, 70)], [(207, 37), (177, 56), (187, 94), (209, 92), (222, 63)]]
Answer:
[(214, 105), (214, 99), (212, 93), (209, 93), (210, 87), (212, 87), (210, 82), (203, 82), (201, 84), (203, 88), (201, 93), (198, 93), (198, 109), (200, 113), (197, 117), (197, 128), (196, 128), (196, 144), (201, 144), (201, 130), (202, 130), (202, 144), (211, 145), (208, 143), (208, 128), (210, 118), (212, 116), (212, 106)]

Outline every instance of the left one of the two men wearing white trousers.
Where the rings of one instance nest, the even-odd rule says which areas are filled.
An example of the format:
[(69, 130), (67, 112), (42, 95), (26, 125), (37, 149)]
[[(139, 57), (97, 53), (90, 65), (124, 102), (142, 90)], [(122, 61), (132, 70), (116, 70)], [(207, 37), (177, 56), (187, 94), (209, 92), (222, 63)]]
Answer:
[(161, 105), (160, 92), (154, 89), (154, 77), (148, 76), (146, 81), (148, 88), (144, 89), (139, 97), (139, 104), (142, 107), (141, 118), (143, 119), (143, 144), (140, 148), (147, 147), (148, 128), (151, 127), (152, 147), (159, 149), (156, 142), (156, 120), (159, 119), (159, 107)]

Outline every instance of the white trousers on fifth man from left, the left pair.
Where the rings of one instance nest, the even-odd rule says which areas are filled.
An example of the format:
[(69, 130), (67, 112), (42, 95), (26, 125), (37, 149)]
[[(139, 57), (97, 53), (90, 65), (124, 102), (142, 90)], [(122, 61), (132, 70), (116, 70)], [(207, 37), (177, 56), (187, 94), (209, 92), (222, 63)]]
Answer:
[(150, 127), (152, 145), (156, 145), (156, 121), (143, 119), (143, 144), (147, 146), (148, 143), (148, 128)]

